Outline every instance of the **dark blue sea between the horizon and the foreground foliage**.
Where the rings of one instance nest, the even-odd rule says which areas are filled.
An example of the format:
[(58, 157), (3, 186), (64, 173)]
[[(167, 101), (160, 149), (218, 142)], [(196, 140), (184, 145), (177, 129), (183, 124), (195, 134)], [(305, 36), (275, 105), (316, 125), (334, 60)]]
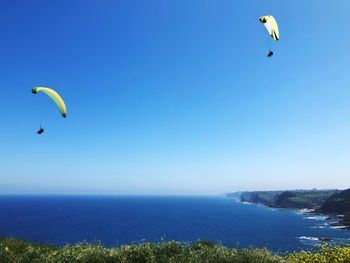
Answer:
[(273, 250), (311, 248), (315, 237), (347, 241), (322, 217), (246, 205), (226, 197), (1, 196), (0, 236), (64, 245), (207, 239)]

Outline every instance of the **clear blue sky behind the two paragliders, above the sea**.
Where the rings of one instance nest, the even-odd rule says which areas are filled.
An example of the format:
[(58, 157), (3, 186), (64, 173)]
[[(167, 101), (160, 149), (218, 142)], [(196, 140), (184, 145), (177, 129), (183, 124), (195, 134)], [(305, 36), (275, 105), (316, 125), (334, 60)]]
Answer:
[(349, 15), (348, 0), (0, 1), (0, 193), (350, 187)]

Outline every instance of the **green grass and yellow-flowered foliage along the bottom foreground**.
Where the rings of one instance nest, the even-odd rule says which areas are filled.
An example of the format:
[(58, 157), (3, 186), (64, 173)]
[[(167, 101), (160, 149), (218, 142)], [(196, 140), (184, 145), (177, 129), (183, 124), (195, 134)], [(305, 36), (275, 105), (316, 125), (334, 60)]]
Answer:
[(0, 239), (0, 262), (350, 262), (350, 246), (320, 247), (317, 252), (302, 251), (277, 255), (268, 249), (237, 249), (198, 241), (195, 244), (165, 242), (105, 248), (100, 244), (65, 247), (32, 244), (17, 239)]

